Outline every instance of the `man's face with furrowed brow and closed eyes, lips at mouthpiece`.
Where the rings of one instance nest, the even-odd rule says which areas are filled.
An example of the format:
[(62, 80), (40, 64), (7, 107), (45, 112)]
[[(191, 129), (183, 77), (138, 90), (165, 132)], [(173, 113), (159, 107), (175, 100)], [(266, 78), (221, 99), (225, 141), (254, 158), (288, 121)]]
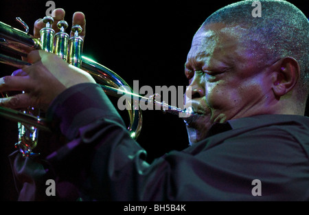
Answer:
[(191, 144), (204, 139), (215, 122), (267, 109), (271, 80), (265, 63), (241, 42), (243, 30), (215, 23), (201, 27), (193, 38), (185, 63), (192, 99), (186, 102), (200, 116), (187, 125)]

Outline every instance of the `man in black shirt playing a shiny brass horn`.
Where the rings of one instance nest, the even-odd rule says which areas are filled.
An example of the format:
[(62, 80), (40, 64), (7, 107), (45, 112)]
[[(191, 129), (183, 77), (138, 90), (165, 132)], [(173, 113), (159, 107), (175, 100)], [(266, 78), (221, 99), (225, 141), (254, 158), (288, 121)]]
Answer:
[[(36, 181), (54, 179), (56, 197), (71, 201), (308, 201), (309, 22), (275, 0), (260, 1), (262, 16), (253, 17), (252, 3), (221, 8), (194, 35), (185, 63), (196, 113), (190, 146), (152, 163), (88, 73), (31, 52), (32, 65), (0, 84), (25, 93), (1, 106), (46, 110), (68, 141), (43, 164), (14, 154), (20, 200), (48, 200)], [(84, 14), (73, 23), (84, 29)], [(35, 26), (37, 36), (41, 21)]]

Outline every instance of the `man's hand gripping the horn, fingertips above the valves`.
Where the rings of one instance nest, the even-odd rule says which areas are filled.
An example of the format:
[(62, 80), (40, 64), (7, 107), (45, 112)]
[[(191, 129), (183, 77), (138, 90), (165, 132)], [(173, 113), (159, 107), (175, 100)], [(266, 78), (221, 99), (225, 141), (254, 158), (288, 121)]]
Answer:
[[(65, 18), (65, 10), (56, 9), (52, 12), (52, 16), (55, 21), (52, 27), (58, 32), (56, 25)], [(84, 39), (86, 19), (82, 12), (73, 14), (73, 25), (82, 26), (80, 36)], [(40, 36), (43, 27), (45, 24), (42, 19), (34, 23), (35, 37)], [(14, 71), (12, 76), (0, 78), (0, 92), (24, 91), (9, 98), (0, 98), (0, 106), (12, 109), (33, 106), (47, 110), (52, 100), (65, 89), (83, 82), (95, 82), (89, 73), (69, 65), (56, 54), (36, 50), (28, 54), (27, 61), (32, 65)]]

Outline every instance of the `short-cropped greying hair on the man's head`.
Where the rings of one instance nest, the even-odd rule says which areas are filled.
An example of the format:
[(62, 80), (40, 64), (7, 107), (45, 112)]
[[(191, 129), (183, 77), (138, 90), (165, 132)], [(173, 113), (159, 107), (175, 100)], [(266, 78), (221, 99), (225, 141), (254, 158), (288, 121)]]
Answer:
[[(253, 1), (239, 1), (211, 14), (202, 27), (210, 23), (240, 26), (244, 45), (251, 48), (262, 63), (293, 57), (301, 68), (300, 102), (306, 102), (309, 92), (309, 21), (299, 8), (280, 0), (261, 0), (262, 17), (254, 18)], [(258, 51), (258, 52), (256, 52)], [(274, 62), (273, 62), (274, 63)]]

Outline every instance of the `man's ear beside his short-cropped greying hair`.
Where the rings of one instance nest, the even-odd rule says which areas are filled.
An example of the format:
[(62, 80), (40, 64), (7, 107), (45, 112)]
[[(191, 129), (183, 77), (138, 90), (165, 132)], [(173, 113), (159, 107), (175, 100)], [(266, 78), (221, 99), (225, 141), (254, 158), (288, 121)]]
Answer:
[(295, 58), (286, 57), (273, 65), (273, 93), (277, 98), (291, 91), (300, 76), (299, 63)]

